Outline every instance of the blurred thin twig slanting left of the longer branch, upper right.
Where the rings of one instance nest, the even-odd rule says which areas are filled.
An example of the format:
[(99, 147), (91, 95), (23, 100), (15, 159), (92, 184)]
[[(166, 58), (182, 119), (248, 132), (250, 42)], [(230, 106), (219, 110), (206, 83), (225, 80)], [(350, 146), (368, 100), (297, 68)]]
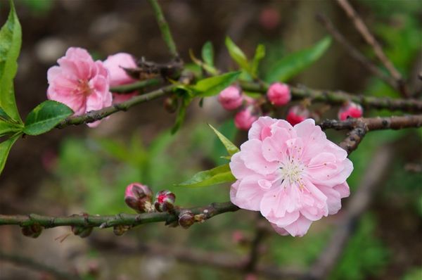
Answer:
[(334, 39), (340, 43), (344, 49), (346, 49), (347, 53), (354, 58), (356, 61), (359, 61), (369, 72), (371, 72), (373, 75), (376, 75), (376, 77), (382, 79), (385, 83), (390, 85), (393, 89), (397, 89), (397, 83), (395, 82), (395, 79), (392, 79), (388, 75), (385, 75), (383, 71), (381, 71), (371, 60), (366, 58), (359, 50), (357, 50), (350, 42), (347, 41), (347, 39), (341, 34), (337, 28), (331, 23), (331, 20), (329, 20), (325, 15), (318, 14), (316, 15), (316, 20), (323, 25), (326, 30), (334, 37)]

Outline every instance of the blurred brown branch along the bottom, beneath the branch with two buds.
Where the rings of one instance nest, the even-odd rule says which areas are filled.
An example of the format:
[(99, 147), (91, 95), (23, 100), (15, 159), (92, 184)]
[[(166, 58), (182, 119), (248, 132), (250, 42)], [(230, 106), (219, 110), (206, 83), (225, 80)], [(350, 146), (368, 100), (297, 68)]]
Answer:
[[(210, 253), (190, 248), (175, 248), (163, 246), (162, 244), (135, 243), (120, 240), (105, 240), (98, 237), (90, 238), (94, 246), (101, 250), (106, 250), (113, 254), (124, 255), (159, 255), (160, 257), (172, 257), (180, 262), (189, 265), (203, 265), (216, 267), (231, 272), (244, 273), (245, 264), (248, 259), (226, 253)], [(295, 268), (279, 269), (277, 267), (257, 266), (255, 273), (273, 279), (298, 278), (303, 275), (303, 271)]]

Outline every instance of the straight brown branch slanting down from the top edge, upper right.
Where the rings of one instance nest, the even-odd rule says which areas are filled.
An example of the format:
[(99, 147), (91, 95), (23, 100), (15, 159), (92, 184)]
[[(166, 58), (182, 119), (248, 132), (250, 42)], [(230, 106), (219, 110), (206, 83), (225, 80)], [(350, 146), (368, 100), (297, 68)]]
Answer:
[(341, 8), (343, 8), (350, 20), (352, 20), (354, 27), (362, 35), (366, 43), (373, 48), (375, 55), (378, 57), (381, 63), (383, 63), (388, 72), (390, 72), (390, 75), (396, 80), (397, 88), (399, 91), (403, 94), (403, 96), (408, 97), (407, 88), (404, 84), (402, 75), (399, 73), (399, 71), (397, 71), (387, 56), (385, 56), (385, 53), (383, 52), (380, 44), (378, 44), (375, 37), (373, 37), (368, 27), (366, 27), (362, 18), (359, 17), (356, 11), (354, 11), (352, 5), (350, 5), (347, 0), (337, 0), (337, 3)]

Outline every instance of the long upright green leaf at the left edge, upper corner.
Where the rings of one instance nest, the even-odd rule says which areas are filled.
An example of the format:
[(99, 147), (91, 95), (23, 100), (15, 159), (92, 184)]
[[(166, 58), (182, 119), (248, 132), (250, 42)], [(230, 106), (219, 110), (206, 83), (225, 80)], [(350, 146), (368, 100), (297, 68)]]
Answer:
[(15, 101), (13, 78), (18, 71), (20, 44), (22, 31), (13, 1), (10, 2), (11, 11), (6, 23), (0, 30), (0, 107), (13, 120), (22, 123)]

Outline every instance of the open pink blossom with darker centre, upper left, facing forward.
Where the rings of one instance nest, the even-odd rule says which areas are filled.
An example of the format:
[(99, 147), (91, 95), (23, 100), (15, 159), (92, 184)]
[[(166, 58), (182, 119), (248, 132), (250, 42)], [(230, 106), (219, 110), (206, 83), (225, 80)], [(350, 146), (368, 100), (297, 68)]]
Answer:
[[(111, 105), (108, 71), (101, 61), (93, 61), (87, 50), (71, 47), (57, 63), (47, 72), (47, 98), (66, 104), (74, 115)], [(96, 127), (99, 122), (88, 126)]]

